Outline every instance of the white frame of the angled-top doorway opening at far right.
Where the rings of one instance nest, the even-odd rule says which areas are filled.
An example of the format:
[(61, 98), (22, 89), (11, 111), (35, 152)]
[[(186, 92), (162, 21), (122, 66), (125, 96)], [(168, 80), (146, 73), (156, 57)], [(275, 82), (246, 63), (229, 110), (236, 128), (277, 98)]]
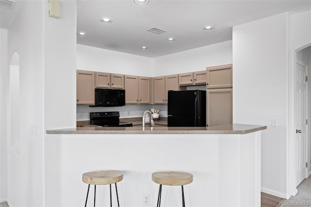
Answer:
[[(297, 52), (301, 51), (307, 47), (311, 46), (311, 43), (306, 44), (304, 46), (301, 46), (299, 48), (296, 48), (290, 52), (289, 59), (288, 59), (288, 68), (287, 68), (287, 135), (286, 135), (286, 166), (287, 166), (287, 173), (286, 173), (286, 199), (289, 199), (292, 195), (297, 194), (297, 188), (296, 188), (296, 172), (295, 172), (295, 123), (294, 123), (294, 83), (295, 83), (295, 69), (296, 69), (296, 60), (297, 60)], [(311, 78), (309, 78), (309, 82), (311, 81)], [(309, 85), (309, 84), (308, 84)], [(308, 100), (310, 101), (310, 100)], [(310, 103), (308, 103), (310, 104)], [(309, 119), (309, 124), (311, 124), (311, 119), (309, 117), (309, 114), (307, 114), (307, 117)], [(308, 128), (308, 127), (307, 127)], [(307, 129), (308, 131), (308, 129)], [(308, 135), (310, 132), (306, 132)], [(307, 147), (309, 147), (307, 145)], [(310, 173), (309, 173), (310, 175)]]

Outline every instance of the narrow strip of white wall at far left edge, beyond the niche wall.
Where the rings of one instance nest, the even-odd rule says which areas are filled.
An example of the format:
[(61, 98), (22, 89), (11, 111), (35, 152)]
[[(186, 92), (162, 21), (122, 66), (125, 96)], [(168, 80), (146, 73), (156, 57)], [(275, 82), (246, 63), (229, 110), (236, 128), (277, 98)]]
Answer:
[[(0, 203), (7, 198), (7, 30), (0, 29)], [(3, 77), (3, 78), (2, 78)], [(5, 78), (4, 78), (5, 77)]]

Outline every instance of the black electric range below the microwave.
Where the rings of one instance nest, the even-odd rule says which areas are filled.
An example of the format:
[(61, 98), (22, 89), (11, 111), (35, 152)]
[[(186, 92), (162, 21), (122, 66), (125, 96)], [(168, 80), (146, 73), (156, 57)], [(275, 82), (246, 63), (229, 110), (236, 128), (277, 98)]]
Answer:
[(125, 127), (133, 126), (132, 123), (120, 122), (120, 113), (119, 111), (111, 112), (91, 112), (90, 113), (90, 124), (104, 126), (104, 127)]

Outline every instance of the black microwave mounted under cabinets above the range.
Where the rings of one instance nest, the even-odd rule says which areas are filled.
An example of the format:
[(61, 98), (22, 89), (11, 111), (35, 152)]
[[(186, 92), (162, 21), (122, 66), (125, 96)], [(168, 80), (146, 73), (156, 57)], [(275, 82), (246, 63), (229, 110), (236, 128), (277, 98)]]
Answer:
[(125, 90), (95, 88), (95, 106), (125, 105)]

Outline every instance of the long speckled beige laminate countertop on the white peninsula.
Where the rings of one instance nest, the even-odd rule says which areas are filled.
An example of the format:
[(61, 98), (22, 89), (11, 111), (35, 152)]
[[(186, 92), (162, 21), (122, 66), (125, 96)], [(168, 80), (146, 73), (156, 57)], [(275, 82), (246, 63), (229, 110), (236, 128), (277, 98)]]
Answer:
[(212, 127), (76, 127), (47, 130), (47, 134), (248, 134), (267, 129), (267, 126), (225, 124)]

